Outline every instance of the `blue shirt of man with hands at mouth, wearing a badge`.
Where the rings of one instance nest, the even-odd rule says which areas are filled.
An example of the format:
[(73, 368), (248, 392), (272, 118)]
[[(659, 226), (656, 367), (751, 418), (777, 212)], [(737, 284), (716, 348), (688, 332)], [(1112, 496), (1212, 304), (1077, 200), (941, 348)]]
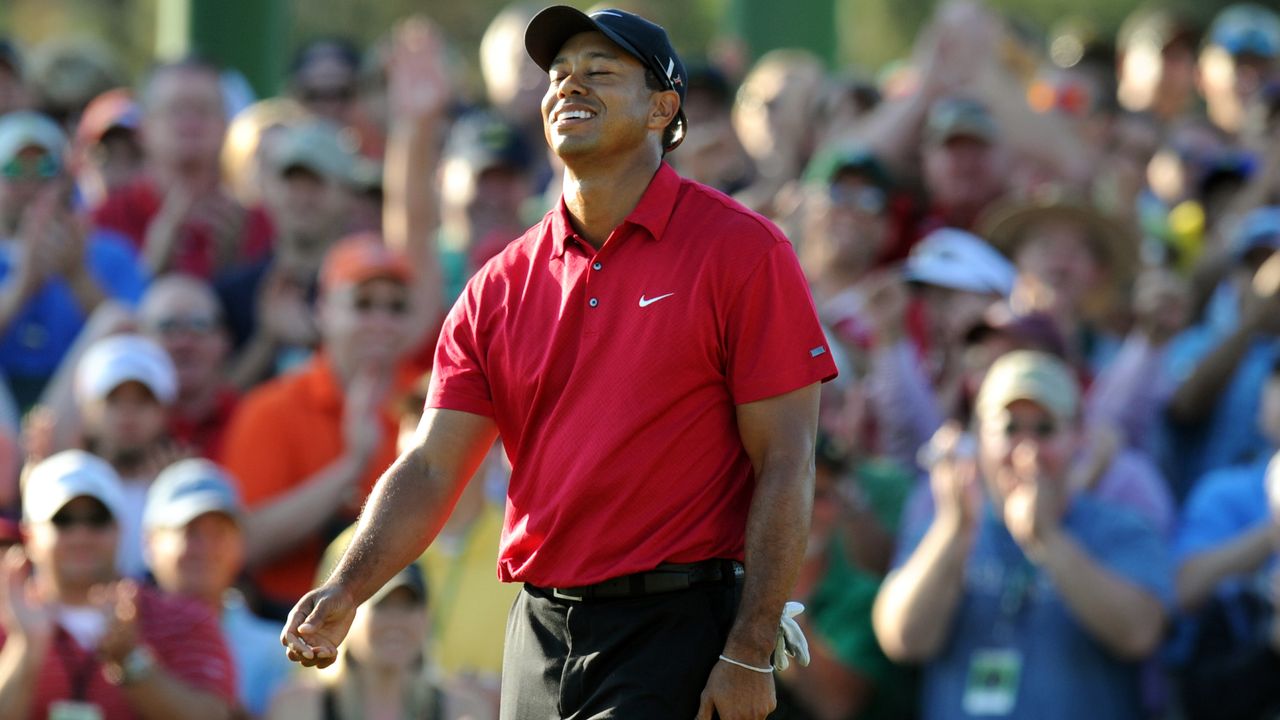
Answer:
[[(932, 518), (929, 519), (932, 521)], [(1078, 497), (1064, 528), (1108, 571), (1161, 602), (1171, 597), (1167, 547), (1149, 523), (1128, 510)], [(928, 529), (908, 529), (899, 564)], [(1050, 578), (1023, 555), (991, 506), (978, 530), (951, 637), (923, 667), (922, 717), (975, 717), (968, 712), (980, 657), (1016, 657), (1012, 705), (1004, 717), (1132, 720), (1142, 716), (1140, 664), (1120, 660), (1076, 621)]]

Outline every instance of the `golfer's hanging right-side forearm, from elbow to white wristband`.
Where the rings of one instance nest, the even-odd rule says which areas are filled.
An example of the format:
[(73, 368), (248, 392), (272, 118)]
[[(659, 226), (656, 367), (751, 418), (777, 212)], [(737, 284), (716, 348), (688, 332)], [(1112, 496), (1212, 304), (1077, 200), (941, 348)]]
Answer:
[(795, 587), (813, 511), (813, 455), (776, 457), (756, 477), (746, 520), (746, 580), (724, 653), (768, 665), (782, 606)]

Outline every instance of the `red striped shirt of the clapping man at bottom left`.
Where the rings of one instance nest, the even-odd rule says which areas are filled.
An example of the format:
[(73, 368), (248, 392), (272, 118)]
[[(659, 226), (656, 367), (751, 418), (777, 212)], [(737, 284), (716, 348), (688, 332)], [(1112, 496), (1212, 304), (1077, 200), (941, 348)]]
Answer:
[[(236, 706), (236, 667), (218, 619), (207, 607), (142, 585), (138, 633), (165, 673)], [(96, 705), (101, 716), (111, 720), (142, 717), (133, 712), (124, 691), (106, 682), (95, 652), (59, 626), (36, 678), (29, 717), (47, 717), (51, 703), (70, 700)]]

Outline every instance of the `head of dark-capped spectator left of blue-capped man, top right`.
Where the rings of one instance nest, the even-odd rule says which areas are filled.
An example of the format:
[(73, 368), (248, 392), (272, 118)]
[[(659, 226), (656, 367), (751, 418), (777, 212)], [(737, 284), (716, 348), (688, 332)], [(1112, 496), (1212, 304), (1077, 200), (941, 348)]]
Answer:
[(1124, 109), (1169, 122), (1196, 104), (1199, 31), (1178, 10), (1142, 6), (1125, 18), (1116, 40), (1116, 97)]

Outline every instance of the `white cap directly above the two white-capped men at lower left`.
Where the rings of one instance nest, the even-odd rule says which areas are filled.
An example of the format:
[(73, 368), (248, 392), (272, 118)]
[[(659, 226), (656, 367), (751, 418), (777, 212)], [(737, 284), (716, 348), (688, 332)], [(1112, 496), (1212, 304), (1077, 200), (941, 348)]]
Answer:
[(129, 380), (145, 384), (164, 405), (178, 395), (178, 372), (169, 354), (140, 334), (95, 342), (76, 368), (76, 393), (82, 401), (101, 400)]

